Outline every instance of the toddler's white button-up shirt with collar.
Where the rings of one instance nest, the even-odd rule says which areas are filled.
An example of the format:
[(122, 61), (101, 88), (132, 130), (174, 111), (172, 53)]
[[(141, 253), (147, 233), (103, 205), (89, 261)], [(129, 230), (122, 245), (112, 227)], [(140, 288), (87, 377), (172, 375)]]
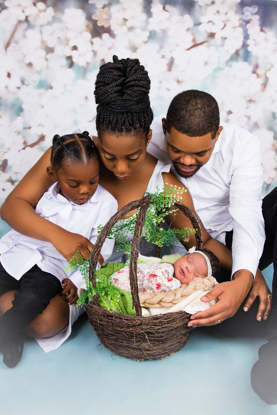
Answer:
[[(100, 185), (83, 205), (67, 200), (58, 193), (59, 189), (56, 182), (44, 193), (36, 205), (36, 213), (69, 232), (83, 235), (95, 244), (98, 225), (105, 225), (117, 212), (117, 201)], [(113, 239), (105, 240), (101, 249), (104, 261), (111, 255), (113, 246)], [(77, 287), (83, 282), (80, 271), (65, 270), (68, 261), (50, 242), (22, 235), (13, 229), (0, 239), (0, 254), (2, 266), (17, 280), (37, 264), (42, 271), (51, 273), (60, 281), (70, 278)]]

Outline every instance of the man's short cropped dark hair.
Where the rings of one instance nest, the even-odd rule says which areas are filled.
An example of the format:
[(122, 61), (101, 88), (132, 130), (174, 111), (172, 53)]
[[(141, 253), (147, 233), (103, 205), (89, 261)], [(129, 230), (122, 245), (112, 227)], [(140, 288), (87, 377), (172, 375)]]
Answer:
[(219, 129), (219, 106), (210, 94), (195, 89), (177, 94), (166, 115), (167, 131), (174, 127), (189, 137), (202, 137), (211, 133), (214, 139)]

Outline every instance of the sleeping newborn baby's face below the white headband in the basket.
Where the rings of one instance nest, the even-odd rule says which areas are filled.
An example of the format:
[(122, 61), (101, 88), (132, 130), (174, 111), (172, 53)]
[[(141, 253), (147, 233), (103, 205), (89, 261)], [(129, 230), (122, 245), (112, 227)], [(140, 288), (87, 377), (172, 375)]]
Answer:
[(174, 264), (174, 276), (182, 284), (188, 284), (196, 277), (205, 278), (208, 275), (206, 259), (199, 252), (187, 254), (177, 259)]

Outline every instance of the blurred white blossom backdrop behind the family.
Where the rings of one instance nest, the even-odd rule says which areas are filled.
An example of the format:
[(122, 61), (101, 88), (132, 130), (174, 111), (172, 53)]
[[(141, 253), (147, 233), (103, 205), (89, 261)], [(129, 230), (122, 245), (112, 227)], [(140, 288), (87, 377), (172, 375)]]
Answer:
[(276, 15), (274, 0), (0, 0), (0, 203), (54, 134), (95, 134), (95, 78), (114, 54), (146, 67), (155, 117), (181, 90), (214, 95), (221, 121), (259, 137), (268, 193), (277, 183)]

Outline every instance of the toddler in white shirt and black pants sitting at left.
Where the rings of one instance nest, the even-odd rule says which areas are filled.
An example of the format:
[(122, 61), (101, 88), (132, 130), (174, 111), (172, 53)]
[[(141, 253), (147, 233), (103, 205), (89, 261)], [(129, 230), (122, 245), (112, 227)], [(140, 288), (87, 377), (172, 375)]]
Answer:
[[(94, 244), (97, 226), (104, 225), (114, 215), (117, 202), (98, 185), (98, 153), (87, 131), (63, 137), (55, 135), (47, 173), (54, 184), (39, 200), (36, 213), (70, 232), (83, 235)], [(113, 244), (111, 239), (104, 242), (101, 251), (104, 259), (112, 253)], [(0, 351), (4, 363), (14, 367), (21, 359), (24, 344), (19, 332), (42, 313), (58, 293), (70, 305), (70, 321), (66, 333), (57, 335), (58, 343), (52, 340), (51, 349), (69, 336), (71, 325), (78, 317), (77, 308), (71, 304), (77, 300), (77, 287), (83, 278), (79, 271), (65, 270), (68, 261), (50, 242), (15, 230), (0, 240), (0, 254), (0, 297), (16, 290), (12, 307), (0, 317)]]

